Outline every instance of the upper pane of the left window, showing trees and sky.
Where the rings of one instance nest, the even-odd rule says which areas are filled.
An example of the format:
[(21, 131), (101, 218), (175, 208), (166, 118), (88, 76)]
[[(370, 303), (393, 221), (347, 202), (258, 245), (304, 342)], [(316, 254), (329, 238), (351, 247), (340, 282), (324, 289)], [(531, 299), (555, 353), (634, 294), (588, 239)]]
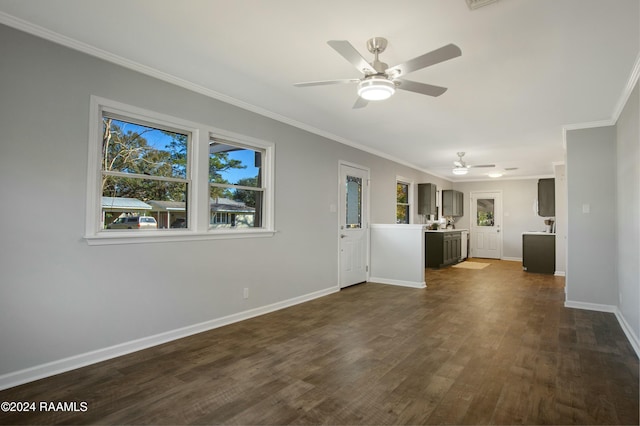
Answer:
[(186, 134), (102, 118), (102, 170), (186, 179)]

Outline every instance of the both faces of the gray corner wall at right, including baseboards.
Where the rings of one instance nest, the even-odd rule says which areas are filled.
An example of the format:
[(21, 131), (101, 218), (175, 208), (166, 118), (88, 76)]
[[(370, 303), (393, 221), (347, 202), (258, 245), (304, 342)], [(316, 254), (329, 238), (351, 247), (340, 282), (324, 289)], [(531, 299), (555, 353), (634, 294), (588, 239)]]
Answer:
[[(567, 132), (567, 302), (611, 310), (640, 348), (640, 91), (615, 126)], [(585, 211), (588, 205), (589, 212)]]

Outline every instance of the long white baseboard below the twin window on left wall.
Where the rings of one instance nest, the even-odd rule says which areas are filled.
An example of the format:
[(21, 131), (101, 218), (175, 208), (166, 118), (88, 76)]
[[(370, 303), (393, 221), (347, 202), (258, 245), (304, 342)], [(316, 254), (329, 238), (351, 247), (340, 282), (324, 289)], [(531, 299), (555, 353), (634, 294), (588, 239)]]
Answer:
[(237, 314), (228, 315), (222, 318), (216, 318), (199, 324), (178, 328), (176, 330), (167, 331), (153, 336), (143, 337), (141, 339), (124, 342), (107, 348), (74, 355), (68, 358), (48, 362), (46, 364), (36, 365), (16, 372), (4, 374), (0, 376), (0, 390), (12, 388), (34, 380), (43, 379), (66, 371), (75, 370), (90, 364), (116, 358), (152, 346), (157, 346), (172, 340), (181, 339), (193, 334), (202, 333), (204, 331), (213, 330), (218, 327), (233, 324), (249, 318), (268, 314), (280, 309), (288, 308), (300, 303), (308, 302), (319, 297), (327, 296), (340, 291), (339, 287), (329, 287), (303, 296), (294, 297), (282, 302), (273, 303), (271, 305), (261, 306), (259, 308), (250, 309), (248, 311), (239, 312)]

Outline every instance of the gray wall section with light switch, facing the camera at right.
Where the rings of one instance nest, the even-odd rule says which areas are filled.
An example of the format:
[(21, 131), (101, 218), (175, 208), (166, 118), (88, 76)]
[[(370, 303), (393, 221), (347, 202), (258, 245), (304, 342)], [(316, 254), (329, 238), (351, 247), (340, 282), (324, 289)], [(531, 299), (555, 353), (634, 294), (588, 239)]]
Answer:
[(615, 126), (567, 132), (567, 300), (617, 305)]

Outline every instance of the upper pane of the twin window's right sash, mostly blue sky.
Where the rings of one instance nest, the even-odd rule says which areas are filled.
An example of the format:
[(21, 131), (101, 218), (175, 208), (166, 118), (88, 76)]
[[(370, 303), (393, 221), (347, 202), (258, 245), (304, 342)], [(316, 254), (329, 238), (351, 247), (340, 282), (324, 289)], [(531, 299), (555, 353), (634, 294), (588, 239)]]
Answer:
[(209, 182), (262, 187), (263, 152), (220, 141), (209, 144)]

